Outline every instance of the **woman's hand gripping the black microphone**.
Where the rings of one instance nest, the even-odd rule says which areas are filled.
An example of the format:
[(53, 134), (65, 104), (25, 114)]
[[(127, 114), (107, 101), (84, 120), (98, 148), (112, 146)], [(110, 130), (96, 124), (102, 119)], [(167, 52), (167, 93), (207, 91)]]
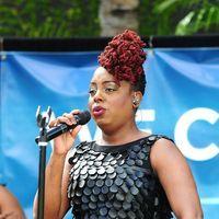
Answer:
[[(79, 110), (73, 110), (70, 113), (65, 113), (62, 116), (57, 117), (55, 120), (51, 120), (49, 124), (49, 127), (56, 127), (57, 125), (61, 123), (66, 123), (67, 125), (74, 125), (77, 124), (73, 115), (79, 114)], [(76, 137), (81, 129), (81, 126), (78, 125), (72, 130), (69, 130), (54, 139), (54, 153), (62, 155), (67, 154), (67, 152), (70, 150), (70, 148), (73, 145), (73, 141), (76, 140)]]

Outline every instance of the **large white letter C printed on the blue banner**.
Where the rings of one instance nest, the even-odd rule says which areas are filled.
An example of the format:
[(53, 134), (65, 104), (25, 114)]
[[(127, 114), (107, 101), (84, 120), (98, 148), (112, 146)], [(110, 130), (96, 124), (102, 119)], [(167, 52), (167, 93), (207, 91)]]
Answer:
[(191, 110), (180, 117), (174, 131), (175, 143), (181, 152), (186, 158), (195, 161), (209, 160), (219, 153), (219, 147), (215, 143), (210, 143), (205, 148), (194, 148), (188, 141), (189, 126), (200, 119), (215, 124), (219, 119), (219, 113), (204, 107)]

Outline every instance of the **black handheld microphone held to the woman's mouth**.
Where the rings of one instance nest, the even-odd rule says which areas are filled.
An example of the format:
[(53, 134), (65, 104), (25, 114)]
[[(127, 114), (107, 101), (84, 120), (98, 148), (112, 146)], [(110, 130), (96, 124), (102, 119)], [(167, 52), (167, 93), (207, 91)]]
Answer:
[[(46, 142), (50, 141), (51, 139), (60, 136), (61, 134), (67, 132), (70, 129), (76, 128), (78, 125), (84, 125), (87, 124), (90, 119), (91, 119), (91, 114), (88, 111), (81, 112), (77, 115), (73, 115), (74, 119), (76, 119), (76, 124), (69, 126), (65, 123), (59, 124), (56, 127), (53, 127), (50, 129), (47, 130), (46, 132)], [(39, 140), (39, 136), (37, 136), (35, 138), (36, 143), (38, 143)]]

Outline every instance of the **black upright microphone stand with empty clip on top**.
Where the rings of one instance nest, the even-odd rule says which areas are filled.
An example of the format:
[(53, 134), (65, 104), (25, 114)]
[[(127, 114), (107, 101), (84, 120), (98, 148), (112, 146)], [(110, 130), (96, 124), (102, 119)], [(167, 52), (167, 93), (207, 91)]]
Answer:
[(44, 219), (44, 198), (45, 198), (45, 169), (46, 169), (46, 141), (47, 126), (50, 119), (51, 108), (48, 106), (47, 112), (41, 114), (41, 106), (36, 111), (36, 123), (39, 127), (39, 136), (36, 143), (39, 147), (39, 164), (38, 164), (38, 203), (37, 219)]

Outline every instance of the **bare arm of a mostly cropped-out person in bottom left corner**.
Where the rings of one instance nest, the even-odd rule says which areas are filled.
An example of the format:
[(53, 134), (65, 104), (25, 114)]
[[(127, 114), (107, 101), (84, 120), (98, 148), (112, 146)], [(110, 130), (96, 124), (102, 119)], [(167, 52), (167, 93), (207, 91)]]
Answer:
[(1, 218), (24, 219), (25, 217), (14, 195), (0, 185), (0, 219)]

